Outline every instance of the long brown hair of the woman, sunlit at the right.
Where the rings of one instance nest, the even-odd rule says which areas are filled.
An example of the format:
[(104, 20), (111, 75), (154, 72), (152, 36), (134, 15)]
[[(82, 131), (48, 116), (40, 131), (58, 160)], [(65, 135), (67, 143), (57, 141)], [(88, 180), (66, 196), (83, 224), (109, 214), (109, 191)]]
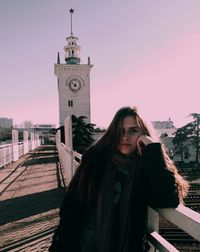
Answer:
[[(117, 111), (113, 120), (111, 121), (107, 131), (103, 137), (93, 146), (91, 146), (82, 157), (82, 162), (73, 180), (79, 180), (78, 191), (80, 201), (86, 200), (88, 195), (92, 195), (89, 198), (95, 198), (98, 193), (98, 187), (101, 183), (101, 178), (105, 171), (105, 166), (113, 153), (117, 151), (119, 139), (122, 134), (123, 119), (127, 116), (132, 116), (136, 119), (138, 126), (142, 129), (143, 133), (152, 137), (151, 130), (147, 127), (144, 120), (138, 115), (135, 107), (123, 107)], [(166, 168), (174, 173), (176, 184), (179, 191), (180, 201), (183, 201), (187, 195), (188, 183), (178, 173), (178, 170), (167, 154), (166, 148), (162, 145), (163, 157), (166, 163)], [(99, 166), (99, 169), (97, 168)], [(95, 169), (94, 169), (95, 168)], [(86, 197), (86, 198), (85, 198)]]

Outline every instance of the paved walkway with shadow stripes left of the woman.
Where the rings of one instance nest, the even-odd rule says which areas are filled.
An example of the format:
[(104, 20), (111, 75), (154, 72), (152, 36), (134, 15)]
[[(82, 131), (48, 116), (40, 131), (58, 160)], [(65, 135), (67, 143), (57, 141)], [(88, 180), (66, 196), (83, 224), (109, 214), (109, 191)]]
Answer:
[(53, 145), (0, 169), (0, 252), (48, 251), (64, 192)]

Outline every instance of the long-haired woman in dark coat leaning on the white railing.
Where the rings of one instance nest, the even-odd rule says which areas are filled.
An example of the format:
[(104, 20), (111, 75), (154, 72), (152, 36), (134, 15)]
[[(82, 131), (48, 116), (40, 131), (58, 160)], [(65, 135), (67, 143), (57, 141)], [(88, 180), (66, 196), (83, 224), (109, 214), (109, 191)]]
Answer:
[(136, 109), (121, 108), (83, 154), (49, 251), (147, 251), (147, 206), (177, 207), (187, 189)]

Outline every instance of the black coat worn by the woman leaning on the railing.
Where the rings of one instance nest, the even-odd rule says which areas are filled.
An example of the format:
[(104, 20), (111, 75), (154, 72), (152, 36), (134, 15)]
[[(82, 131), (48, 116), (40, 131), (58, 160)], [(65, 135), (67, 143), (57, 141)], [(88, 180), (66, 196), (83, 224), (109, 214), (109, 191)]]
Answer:
[[(92, 163), (86, 165), (84, 163), (86, 160), (87, 157), (83, 156), (82, 165), (69, 185), (60, 209), (60, 223), (49, 251), (80, 252), (81, 227), (88, 210), (93, 207), (97, 208), (98, 252), (144, 251), (142, 246), (146, 231), (147, 206), (167, 208), (177, 207), (179, 204), (174, 174), (166, 168), (161, 145), (159, 143), (148, 145), (137, 160), (135, 167), (139, 169), (137, 178), (134, 173), (133, 176), (130, 173), (127, 179), (120, 198), (117, 248), (116, 239), (114, 241), (111, 237), (113, 229), (110, 229), (110, 223), (112, 222), (107, 217), (109, 207), (105, 204), (109, 192), (100, 189), (103, 178), (106, 177), (104, 174), (107, 171), (104, 167), (108, 165), (103, 163), (106, 159), (97, 160), (96, 165)], [(133, 183), (134, 179), (136, 181)], [(85, 191), (80, 196), (77, 195), (77, 188), (81, 180), (85, 183)], [(112, 190), (112, 185), (110, 188)], [(102, 223), (105, 225), (101, 225)], [(111, 238), (108, 238), (109, 236)]]

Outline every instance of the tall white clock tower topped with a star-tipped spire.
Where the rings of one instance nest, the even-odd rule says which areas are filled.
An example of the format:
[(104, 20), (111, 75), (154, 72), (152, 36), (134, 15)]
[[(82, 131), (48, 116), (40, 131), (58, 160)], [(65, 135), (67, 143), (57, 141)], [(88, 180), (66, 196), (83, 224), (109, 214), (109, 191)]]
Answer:
[(71, 34), (66, 38), (67, 45), (64, 47), (65, 63), (60, 63), (58, 53), (57, 64), (54, 72), (58, 81), (59, 96), (59, 123), (64, 125), (67, 116), (85, 116), (90, 122), (90, 64), (88, 57), (87, 64), (80, 64), (80, 49), (78, 37), (73, 34), (74, 10), (70, 10)]

